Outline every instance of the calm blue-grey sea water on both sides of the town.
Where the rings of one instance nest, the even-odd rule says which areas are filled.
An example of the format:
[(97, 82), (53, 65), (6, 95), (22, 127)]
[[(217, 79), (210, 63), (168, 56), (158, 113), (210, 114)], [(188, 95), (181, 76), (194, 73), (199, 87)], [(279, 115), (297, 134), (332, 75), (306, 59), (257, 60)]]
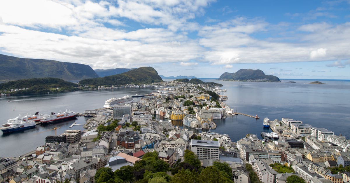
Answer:
[[(171, 81), (171, 79), (163, 79)], [(217, 82), (227, 89), (226, 104), (235, 111), (249, 115), (258, 115), (260, 120), (247, 116), (229, 116), (226, 119), (215, 120), (217, 128), (211, 131), (229, 134), (232, 141), (237, 141), (246, 134), (256, 134), (270, 131), (263, 128), (265, 117), (270, 120), (282, 117), (303, 121), (315, 127), (334, 131), (350, 138), (350, 80), (288, 80), (281, 83), (269, 82), (232, 82), (215, 79), (201, 79), (205, 82)], [(287, 83), (295, 81), (296, 83)], [(307, 84), (321, 81), (326, 84)], [(123, 88), (113, 90), (74, 91), (60, 94), (26, 95), (0, 97), (0, 123), (6, 123), (9, 118), (18, 115), (33, 115), (36, 111), (42, 114), (70, 109), (82, 113), (87, 109), (102, 108), (111, 97), (124, 95), (149, 94), (156, 88)], [(76, 120), (36, 126), (35, 129), (20, 133), (2, 134), (0, 132), (0, 157), (16, 157), (35, 150), (45, 143), (45, 137), (57, 134), (67, 129), (83, 129), (83, 126), (69, 126), (73, 122), (83, 124), (85, 117)], [(181, 126), (181, 123), (174, 123)]]

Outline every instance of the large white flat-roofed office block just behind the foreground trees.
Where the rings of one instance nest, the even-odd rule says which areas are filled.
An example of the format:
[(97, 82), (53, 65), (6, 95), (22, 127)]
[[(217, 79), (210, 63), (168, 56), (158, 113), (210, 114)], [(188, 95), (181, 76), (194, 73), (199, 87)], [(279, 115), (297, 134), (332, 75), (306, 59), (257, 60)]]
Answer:
[(200, 160), (219, 160), (219, 141), (191, 140), (190, 146)]

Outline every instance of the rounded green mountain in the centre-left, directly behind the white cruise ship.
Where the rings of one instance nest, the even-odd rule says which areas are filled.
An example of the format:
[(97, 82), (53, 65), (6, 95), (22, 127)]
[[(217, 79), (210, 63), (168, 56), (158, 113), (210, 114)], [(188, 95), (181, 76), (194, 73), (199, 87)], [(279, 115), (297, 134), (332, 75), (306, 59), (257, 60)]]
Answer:
[(81, 80), (79, 81), (79, 84), (111, 86), (123, 84), (151, 84), (161, 81), (163, 81), (162, 78), (158, 75), (154, 68), (140, 67), (121, 74)]

